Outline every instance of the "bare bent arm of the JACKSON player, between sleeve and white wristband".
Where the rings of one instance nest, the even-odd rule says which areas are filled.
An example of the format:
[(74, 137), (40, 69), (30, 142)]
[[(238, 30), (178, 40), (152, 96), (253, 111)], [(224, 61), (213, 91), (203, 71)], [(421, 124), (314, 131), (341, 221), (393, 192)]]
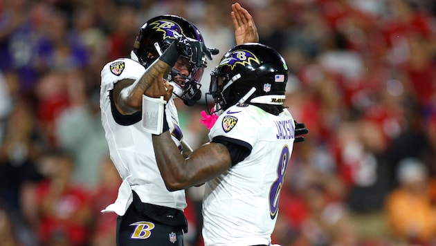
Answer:
[(231, 160), (226, 147), (215, 145), (203, 145), (185, 159), (170, 133), (153, 135), (156, 162), (167, 189), (175, 191), (199, 185), (230, 168)]

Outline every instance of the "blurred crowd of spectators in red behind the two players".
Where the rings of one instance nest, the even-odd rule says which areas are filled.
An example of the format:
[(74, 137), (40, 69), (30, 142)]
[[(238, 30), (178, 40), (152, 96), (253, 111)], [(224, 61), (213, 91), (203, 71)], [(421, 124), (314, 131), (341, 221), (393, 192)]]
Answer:
[[(220, 53), (228, 0), (0, 1), (0, 245), (115, 245), (120, 178), (98, 107), (100, 70), (128, 57), (147, 19), (189, 19)], [(294, 146), (273, 243), (436, 245), (436, 3), (240, 0), (291, 69)], [(195, 148), (201, 101), (178, 102)], [(202, 188), (188, 189), (186, 246), (201, 243)]]

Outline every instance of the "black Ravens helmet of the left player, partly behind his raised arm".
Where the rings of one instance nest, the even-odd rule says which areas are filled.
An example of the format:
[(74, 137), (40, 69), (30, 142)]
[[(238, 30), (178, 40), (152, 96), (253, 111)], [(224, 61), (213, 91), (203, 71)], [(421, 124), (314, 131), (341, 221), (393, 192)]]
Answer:
[[(131, 59), (140, 62), (140, 64), (147, 68), (162, 55), (174, 39), (180, 36), (204, 42), (199, 29), (182, 17), (161, 15), (149, 19), (149, 21), (141, 26), (138, 36), (136, 36)], [(190, 63), (190, 74), (188, 77), (185, 77), (183, 84), (172, 81), (171, 77), (168, 78), (170, 84), (174, 87), (174, 96), (181, 98), (188, 106), (192, 106), (201, 98), (200, 80), (205, 67), (206, 57), (203, 57), (201, 66)], [(178, 71), (174, 69), (170, 73), (172, 76), (177, 74)]]

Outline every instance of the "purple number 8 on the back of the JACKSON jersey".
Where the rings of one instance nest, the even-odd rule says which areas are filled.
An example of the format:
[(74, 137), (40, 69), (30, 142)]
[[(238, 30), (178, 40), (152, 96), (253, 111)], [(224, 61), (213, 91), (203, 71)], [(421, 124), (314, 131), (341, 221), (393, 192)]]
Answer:
[(271, 190), (269, 191), (269, 212), (272, 220), (275, 218), (275, 216), (277, 216), (280, 189), (282, 189), (284, 175), (286, 174), (288, 163), (289, 146), (284, 145), (278, 163), (277, 180), (273, 182), (273, 185), (271, 185)]

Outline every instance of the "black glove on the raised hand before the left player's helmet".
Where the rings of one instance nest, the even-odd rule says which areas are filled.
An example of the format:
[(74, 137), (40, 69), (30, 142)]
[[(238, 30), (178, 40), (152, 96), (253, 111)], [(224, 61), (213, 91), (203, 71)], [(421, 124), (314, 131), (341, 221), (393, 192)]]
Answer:
[(203, 65), (202, 59), (203, 55), (206, 55), (208, 59), (212, 59), (212, 55), (217, 55), (217, 49), (209, 49), (206, 45), (196, 39), (191, 39), (190, 37), (178, 37), (176, 40), (177, 50), (181, 55), (188, 57), (191, 63), (195, 64), (197, 67)]

